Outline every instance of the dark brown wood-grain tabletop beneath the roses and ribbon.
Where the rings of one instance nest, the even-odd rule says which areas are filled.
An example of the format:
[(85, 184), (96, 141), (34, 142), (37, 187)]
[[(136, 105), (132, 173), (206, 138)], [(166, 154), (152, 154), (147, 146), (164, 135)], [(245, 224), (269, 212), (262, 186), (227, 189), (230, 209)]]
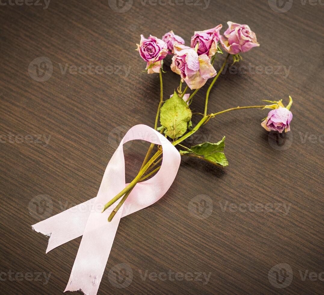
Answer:
[[(159, 78), (141, 72), (140, 34), (174, 30), (189, 44), (195, 30), (222, 23), (224, 32), (228, 20), (249, 24), (261, 46), (243, 55), (238, 66), (248, 71), (219, 78), (210, 112), (262, 99), (287, 104), (291, 95), (292, 131), (277, 144), (260, 126), (267, 112), (257, 109), (204, 125), (186, 144), (226, 135), (229, 167), (183, 158), (160, 201), (122, 218), (98, 294), (323, 294), (321, 2), (287, 2), (284, 13), (266, 0), (212, 0), (207, 9), (203, 1), (134, 0), (123, 13), (103, 0), (1, 3), (1, 294), (63, 292), (81, 238), (45, 254), (48, 238), (31, 225), (95, 197), (125, 132), (153, 125)], [(179, 76), (170, 57), (165, 64), (167, 97)], [(75, 72), (81, 65), (108, 66), (108, 73)], [(204, 94), (194, 99), (196, 112)], [(147, 147), (126, 149), (128, 180)], [(119, 264), (133, 277), (129, 286), (122, 271), (120, 285), (110, 282)]]

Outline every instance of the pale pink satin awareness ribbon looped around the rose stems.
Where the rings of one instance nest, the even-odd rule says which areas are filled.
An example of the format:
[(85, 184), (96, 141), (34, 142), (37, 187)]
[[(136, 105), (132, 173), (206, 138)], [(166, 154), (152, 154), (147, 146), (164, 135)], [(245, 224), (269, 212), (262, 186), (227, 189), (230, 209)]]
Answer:
[[(161, 168), (151, 179), (136, 184), (115, 217), (108, 222), (115, 206), (103, 213), (101, 210), (126, 186), (123, 145), (139, 139), (162, 146)], [(164, 136), (146, 125), (136, 125), (127, 132), (110, 159), (96, 198), (32, 226), (37, 232), (50, 236), (46, 253), (82, 235), (64, 292), (81, 290), (85, 294), (97, 294), (120, 219), (158, 201), (173, 183), (179, 165), (179, 152)]]

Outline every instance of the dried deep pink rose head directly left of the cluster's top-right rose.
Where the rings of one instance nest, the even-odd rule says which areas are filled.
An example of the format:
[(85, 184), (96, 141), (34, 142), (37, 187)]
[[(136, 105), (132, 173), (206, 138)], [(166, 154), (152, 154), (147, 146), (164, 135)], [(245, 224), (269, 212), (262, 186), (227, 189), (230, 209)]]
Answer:
[(198, 55), (207, 54), (211, 58), (217, 51), (217, 43), (220, 39), (219, 31), (222, 27), (222, 25), (218, 25), (214, 29), (195, 32), (191, 37), (191, 47), (195, 48), (199, 42)]

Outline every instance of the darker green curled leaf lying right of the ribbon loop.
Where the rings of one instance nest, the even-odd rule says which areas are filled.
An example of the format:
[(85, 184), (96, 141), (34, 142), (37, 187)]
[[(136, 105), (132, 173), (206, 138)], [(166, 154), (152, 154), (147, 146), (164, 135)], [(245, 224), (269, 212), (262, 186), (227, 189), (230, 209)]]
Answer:
[(180, 151), (181, 155), (195, 156), (200, 159), (204, 159), (208, 162), (212, 162), (215, 165), (226, 167), (228, 161), (223, 153), (225, 148), (225, 136), (217, 143), (205, 142), (200, 145), (191, 147), (188, 151)]

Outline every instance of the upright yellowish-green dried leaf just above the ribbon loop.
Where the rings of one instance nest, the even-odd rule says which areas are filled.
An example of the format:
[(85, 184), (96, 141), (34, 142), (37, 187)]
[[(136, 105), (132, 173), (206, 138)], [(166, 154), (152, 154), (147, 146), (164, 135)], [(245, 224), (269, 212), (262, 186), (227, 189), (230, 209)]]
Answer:
[(185, 134), (191, 116), (188, 105), (174, 91), (173, 96), (161, 108), (160, 122), (167, 129), (166, 135), (174, 140)]

